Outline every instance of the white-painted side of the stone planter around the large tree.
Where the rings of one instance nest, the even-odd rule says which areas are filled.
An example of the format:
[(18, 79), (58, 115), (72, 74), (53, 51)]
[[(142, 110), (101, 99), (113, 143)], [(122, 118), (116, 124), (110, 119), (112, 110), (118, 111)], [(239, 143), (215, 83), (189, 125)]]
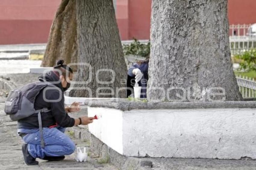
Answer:
[(101, 115), (89, 131), (125, 156), (256, 159), (255, 108), (122, 111), (89, 107)]

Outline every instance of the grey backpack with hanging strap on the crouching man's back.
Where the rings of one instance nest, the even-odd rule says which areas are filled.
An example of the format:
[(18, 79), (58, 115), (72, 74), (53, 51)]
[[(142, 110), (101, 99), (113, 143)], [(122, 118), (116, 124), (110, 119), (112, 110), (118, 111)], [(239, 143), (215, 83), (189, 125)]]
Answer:
[(18, 87), (9, 92), (5, 101), (5, 113), (10, 115), (11, 120), (18, 121), (32, 114), (38, 113), (41, 146), (44, 147), (41, 112), (50, 111), (48, 108), (35, 110), (34, 103), (40, 90), (47, 86), (54, 86), (50, 82), (37, 81)]

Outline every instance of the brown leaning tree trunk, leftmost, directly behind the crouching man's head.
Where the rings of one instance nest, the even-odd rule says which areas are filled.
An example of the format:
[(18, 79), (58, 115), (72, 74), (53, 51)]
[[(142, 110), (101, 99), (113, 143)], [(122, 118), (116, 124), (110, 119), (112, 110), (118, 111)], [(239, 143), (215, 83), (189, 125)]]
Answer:
[[(57, 59), (77, 62), (76, 0), (62, 0), (53, 20), (42, 67), (52, 67)], [(76, 70), (76, 66), (73, 67)]]

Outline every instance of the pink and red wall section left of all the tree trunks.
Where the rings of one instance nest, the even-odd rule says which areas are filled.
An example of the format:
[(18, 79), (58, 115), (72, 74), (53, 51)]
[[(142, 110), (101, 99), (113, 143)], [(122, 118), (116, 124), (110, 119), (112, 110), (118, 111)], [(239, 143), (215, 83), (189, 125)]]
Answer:
[(1, 0), (0, 44), (46, 43), (61, 0)]

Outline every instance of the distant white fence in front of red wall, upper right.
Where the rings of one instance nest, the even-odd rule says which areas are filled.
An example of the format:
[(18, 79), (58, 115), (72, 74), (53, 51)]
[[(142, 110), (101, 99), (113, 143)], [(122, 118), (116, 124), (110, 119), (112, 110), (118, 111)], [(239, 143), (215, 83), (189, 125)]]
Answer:
[(250, 33), (251, 24), (229, 26), (229, 46), (231, 56), (256, 48), (256, 36)]

